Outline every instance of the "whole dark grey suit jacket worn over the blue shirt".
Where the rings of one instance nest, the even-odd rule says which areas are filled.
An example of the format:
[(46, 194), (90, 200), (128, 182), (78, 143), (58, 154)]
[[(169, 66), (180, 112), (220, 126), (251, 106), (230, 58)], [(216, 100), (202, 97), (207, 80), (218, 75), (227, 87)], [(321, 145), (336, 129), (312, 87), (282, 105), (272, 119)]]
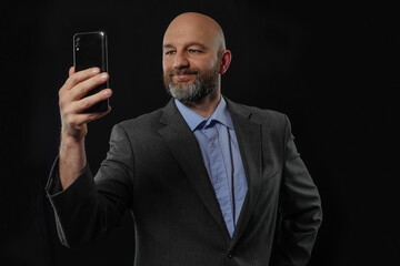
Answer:
[(321, 204), (286, 115), (227, 100), (248, 193), (230, 238), (198, 142), (173, 101), (114, 125), (94, 178), (87, 166), (47, 191), (61, 242), (77, 246), (117, 226), (127, 208), (136, 228), (134, 265), (307, 265)]

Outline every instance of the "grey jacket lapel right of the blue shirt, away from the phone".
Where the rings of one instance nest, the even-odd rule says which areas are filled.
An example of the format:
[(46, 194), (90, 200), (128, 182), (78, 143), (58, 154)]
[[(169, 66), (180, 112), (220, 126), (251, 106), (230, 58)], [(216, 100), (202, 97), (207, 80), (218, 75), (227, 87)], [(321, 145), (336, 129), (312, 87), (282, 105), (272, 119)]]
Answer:
[(233, 246), (243, 233), (260, 193), (262, 145), (261, 125), (250, 121), (251, 112), (228, 99), (226, 100), (232, 117), (248, 182), (248, 193), (231, 241), (231, 246)]

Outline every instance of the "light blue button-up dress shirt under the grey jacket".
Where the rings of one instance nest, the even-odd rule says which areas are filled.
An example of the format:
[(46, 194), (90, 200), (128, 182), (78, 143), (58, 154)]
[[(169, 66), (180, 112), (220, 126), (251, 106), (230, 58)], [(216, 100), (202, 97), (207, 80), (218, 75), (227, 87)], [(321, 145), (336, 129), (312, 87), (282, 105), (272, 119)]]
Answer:
[(227, 103), (223, 98), (208, 119), (174, 100), (179, 112), (199, 142), (228, 232), (232, 237), (248, 184)]

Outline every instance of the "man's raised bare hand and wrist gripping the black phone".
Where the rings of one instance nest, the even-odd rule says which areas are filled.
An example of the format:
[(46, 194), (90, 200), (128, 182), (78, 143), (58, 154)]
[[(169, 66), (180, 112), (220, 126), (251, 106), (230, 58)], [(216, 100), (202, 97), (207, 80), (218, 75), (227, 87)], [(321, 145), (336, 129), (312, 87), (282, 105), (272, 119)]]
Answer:
[(83, 98), (90, 90), (104, 83), (107, 73), (98, 68), (74, 72), (70, 68), (69, 78), (59, 91), (61, 116), (60, 144), (60, 180), (62, 188), (67, 188), (79, 176), (87, 164), (84, 136), (88, 134), (87, 123), (100, 119), (111, 111), (84, 113), (84, 110), (111, 96), (112, 91), (104, 89), (93, 95)]

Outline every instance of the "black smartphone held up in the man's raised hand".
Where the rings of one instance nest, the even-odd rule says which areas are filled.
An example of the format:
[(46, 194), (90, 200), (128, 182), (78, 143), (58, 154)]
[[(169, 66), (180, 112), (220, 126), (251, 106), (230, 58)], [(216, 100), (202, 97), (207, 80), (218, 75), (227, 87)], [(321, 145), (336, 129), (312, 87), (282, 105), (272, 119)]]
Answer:
[[(101, 72), (108, 72), (107, 34), (104, 31), (79, 32), (73, 35), (73, 66), (76, 72), (98, 66)], [(94, 88), (84, 96), (98, 93), (109, 88), (109, 82)], [(86, 110), (87, 113), (104, 112), (109, 100), (104, 100)]]

